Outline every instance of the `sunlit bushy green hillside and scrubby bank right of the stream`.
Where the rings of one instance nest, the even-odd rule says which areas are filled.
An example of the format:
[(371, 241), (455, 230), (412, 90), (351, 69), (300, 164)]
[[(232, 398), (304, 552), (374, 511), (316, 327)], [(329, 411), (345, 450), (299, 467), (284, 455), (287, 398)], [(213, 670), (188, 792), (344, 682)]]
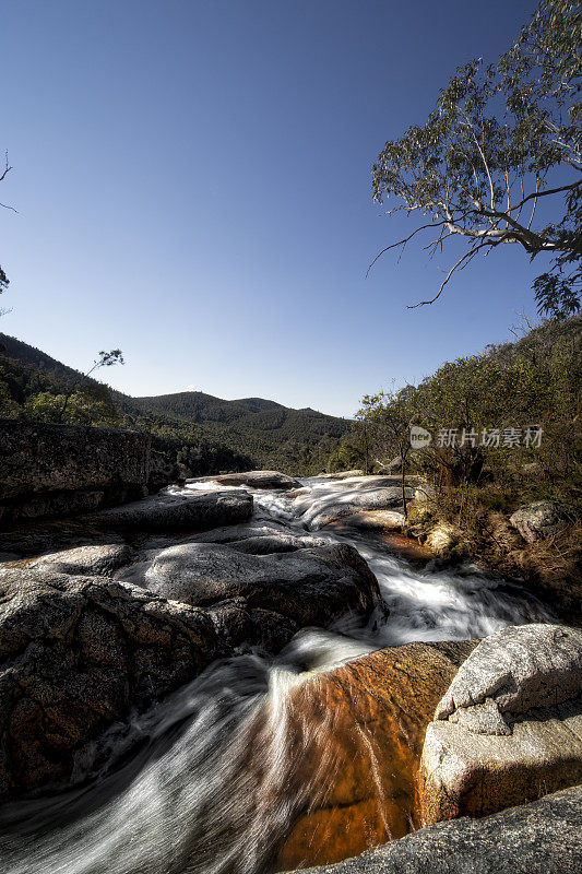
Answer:
[[(416, 449), (413, 426), (430, 435)], [(582, 315), (449, 362), (418, 386), (367, 395), (330, 464), (371, 472), (392, 461), (402, 469), (402, 458), (433, 487), (433, 499), (413, 508), (409, 533), (441, 525), (460, 555), (553, 587), (580, 582)], [(571, 524), (519, 554), (507, 520), (541, 500), (565, 507)]]

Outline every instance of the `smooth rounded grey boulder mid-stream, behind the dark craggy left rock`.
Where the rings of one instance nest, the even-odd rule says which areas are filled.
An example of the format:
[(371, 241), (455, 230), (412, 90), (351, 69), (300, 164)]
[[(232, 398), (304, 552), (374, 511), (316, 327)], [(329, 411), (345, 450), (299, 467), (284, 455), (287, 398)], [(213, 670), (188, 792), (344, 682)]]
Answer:
[(367, 564), (344, 545), (248, 555), (219, 544), (182, 543), (154, 558), (145, 584), (197, 605), (242, 598), (249, 609), (278, 613), (298, 627), (326, 626), (349, 612), (365, 616), (381, 600)]

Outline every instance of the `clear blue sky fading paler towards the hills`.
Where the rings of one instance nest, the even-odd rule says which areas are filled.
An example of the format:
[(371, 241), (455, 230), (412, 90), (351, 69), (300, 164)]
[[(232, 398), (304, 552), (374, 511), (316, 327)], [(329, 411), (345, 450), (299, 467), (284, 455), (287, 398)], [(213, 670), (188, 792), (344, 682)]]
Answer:
[(0, 330), (131, 394), (186, 387), (351, 415), (509, 338), (533, 311), (516, 247), (450, 265), (411, 247), (370, 168), (525, 0), (3, 2)]

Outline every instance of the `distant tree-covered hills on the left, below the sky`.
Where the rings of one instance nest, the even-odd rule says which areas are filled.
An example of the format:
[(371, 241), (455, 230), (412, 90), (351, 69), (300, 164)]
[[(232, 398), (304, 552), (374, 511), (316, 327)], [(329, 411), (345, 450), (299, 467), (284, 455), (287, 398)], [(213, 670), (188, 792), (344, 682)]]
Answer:
[(316, 473), (351, 427), (262, 398), (225, 401), (200, 391), (131, 398), (15, 338), (0, 334), (0, 415), (147, 430), (192, 475), (249, 468)]

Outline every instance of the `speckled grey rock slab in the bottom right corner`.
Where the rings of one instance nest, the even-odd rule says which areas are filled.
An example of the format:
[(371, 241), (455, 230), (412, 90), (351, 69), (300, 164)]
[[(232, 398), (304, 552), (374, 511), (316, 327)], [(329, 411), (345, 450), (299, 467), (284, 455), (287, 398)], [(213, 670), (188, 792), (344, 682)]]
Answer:
[(483, 819), (421, 828), (304, 874), (574, 874), (582, 867), (582, 787)]

